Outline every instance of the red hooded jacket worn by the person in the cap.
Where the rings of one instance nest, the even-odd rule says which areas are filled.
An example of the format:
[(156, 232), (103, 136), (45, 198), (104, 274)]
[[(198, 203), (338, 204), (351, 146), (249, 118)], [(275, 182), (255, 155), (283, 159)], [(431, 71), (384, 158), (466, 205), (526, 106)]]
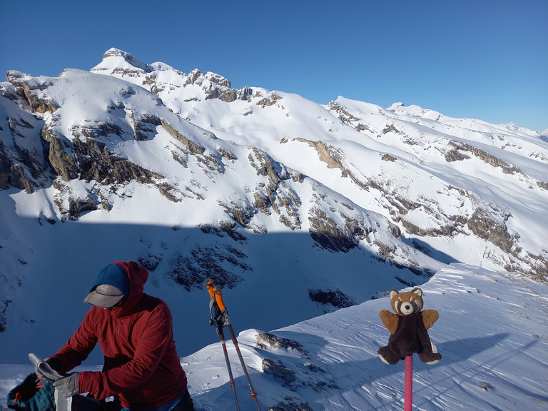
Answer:
[(148, 271), (133, 261), (114, 262), (128, 273), (129, 295), (120, 307), (93, 306), (76, 333), (52, 358), (61, 374), (81, 364), (99, 342), (105, 363), (101, 372), (81, 372), (78, 392), (96, 400), (118, 395), (123, 407), (150, 410), (175, 400), (186, 390), (186, 374), (173, 341), (171, 311), (159, 298), (143, 293)]

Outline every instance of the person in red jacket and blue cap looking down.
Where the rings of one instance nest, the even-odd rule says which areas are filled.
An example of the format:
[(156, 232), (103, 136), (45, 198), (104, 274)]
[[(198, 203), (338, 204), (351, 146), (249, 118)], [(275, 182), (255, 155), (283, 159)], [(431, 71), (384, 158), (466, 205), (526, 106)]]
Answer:
[(163, 300), (143, 293), (146, 280), (148, 271), (134, 261), (115, 261), (98, 273), (84, 300), (93, 307), (46, 362), (66, 375), (98, 342), (103, 370), (57, 380), (54, 385), (63, 395), (87, 392), (100, 401), (115, 396), (124, 411), (194, 411), (173, 341), (171, 311)]

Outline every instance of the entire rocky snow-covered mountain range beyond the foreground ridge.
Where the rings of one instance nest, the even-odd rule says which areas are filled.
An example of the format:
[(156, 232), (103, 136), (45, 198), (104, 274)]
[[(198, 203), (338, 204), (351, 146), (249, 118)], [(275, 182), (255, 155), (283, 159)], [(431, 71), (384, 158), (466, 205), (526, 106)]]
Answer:
[(0, 89), (0, 363), (58, 349), (113, 260), (150, 270), (185, 357), (216, 338), (205, 278), (240, 330), (422, 285), (450, 263), (547, 278), (537, 132), (235, 89), (118, 49), (89, 72), (9, 71)]

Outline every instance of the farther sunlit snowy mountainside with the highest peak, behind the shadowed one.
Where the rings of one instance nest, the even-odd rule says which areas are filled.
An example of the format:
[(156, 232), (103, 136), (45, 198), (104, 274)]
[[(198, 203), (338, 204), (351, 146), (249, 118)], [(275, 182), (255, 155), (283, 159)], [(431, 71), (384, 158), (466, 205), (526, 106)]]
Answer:
[[(256, 146), (386, 215), (406, 237), (450, 255), (449, 261), (529, 270), (517, 260), (546, 258), (548, 145), (537, 132), (402, 103), (381, 108), (339, 97), (320, 106), (260, 87), (235, 91), (214, 73), (186, 74), (165, 64), (139, 72), (128, 65), (111, 50), (92, 71), (150, 89), (179, 116), (219, 138)], [(318, 141), (327, 156), (315, 153)], [(402, 210), (400, 198), (411, 206)], [(517, 239), (508, 241), (507, 255), (489, 242), (478, 246), (470, 230), (455, 223), (455, 215), (470, 217), (476, 210)], [(440, 227), (450, 235), (428, 233)]]

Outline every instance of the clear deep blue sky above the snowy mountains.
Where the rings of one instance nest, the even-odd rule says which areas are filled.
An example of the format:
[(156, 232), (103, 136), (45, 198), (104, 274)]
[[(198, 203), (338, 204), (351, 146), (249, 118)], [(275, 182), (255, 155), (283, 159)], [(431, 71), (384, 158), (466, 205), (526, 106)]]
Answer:
[(234, 88), (548, 128), (546, 0), (0, 0), (1, 73), (89, 70), (111, 47)]

